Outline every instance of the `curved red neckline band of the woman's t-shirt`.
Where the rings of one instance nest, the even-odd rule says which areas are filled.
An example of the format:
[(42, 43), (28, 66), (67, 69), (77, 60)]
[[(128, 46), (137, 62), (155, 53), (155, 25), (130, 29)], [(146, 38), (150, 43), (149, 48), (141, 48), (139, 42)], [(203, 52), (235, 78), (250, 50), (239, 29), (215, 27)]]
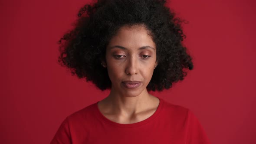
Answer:
[[(158, 98), (158, 97), (156, 97)], [(108, 124), (112, 124), (116, 127), (121, 127), (121, 128), (134, 128), (134, 127), (138, 127), (140, 125), (143, 125), (143, 124), (147, 124), (148, 122), (150, 121), (154, 121), (155, 118), (157, 118), (158, 114), (160, 113), (160, 111), (162, 110), (162, 107), (163, 107), (163, 99), (161, 98), (158, 98), (159, 99), (159, 105), (158, 105), (158, 108), (157, 110), (153, 113), (153, 115), (151, 115), (149, 118), (143, 120), (143, 121), (139, 121), (139, 122), (136, 122), (136, 123), (132, 123), (132, 124), (120, 124), (120, 123), (117, 123), (117, 122), (114, 122), (114, 121), (111, 121), (109, 120), (108, 118), (106, 118), (99, 110), (98, 108), (98, 102), (97, 101), (95, 104), (94, 104), (94, 108), (96, 109), (96, 115), (103, 121), (105, 121), (106, 123)]]

